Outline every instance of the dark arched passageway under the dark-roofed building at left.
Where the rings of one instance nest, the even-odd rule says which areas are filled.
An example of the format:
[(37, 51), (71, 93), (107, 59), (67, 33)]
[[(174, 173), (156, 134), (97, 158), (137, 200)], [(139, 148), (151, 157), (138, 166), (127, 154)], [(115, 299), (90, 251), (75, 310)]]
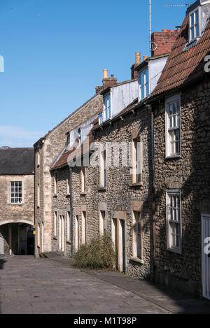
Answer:
[(0, 257), (34, 255), (34, 234), (29, 222), (1, 222)]

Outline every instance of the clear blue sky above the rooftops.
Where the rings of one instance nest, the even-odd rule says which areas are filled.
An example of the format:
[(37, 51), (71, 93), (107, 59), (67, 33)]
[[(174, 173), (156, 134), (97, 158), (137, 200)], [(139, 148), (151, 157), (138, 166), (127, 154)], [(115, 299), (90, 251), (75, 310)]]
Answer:
[[(183, 0), (152, 0), (152, 30), (175, 29)], [(193, 1), (192, 1), (193, 2)], [(1, 0), (0, 147), (31, 147), (102, 85), (149, 53), (148, 0)]]

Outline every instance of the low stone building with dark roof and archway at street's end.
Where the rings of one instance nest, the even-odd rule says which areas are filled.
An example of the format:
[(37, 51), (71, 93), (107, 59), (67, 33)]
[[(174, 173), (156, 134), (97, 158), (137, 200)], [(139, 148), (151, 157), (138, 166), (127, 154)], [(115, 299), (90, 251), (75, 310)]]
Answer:
[(33, 255), (34, 149), (0, 148), (0, 257)]

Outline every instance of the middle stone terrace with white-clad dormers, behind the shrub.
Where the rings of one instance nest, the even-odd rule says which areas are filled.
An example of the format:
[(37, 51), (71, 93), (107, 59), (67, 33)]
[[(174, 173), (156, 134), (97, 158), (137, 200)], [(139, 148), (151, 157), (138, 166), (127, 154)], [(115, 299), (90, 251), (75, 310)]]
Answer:
[[(167, 49), (169, 51), (170, 48)], [(116, 267), (141, 278), (151, 277), (152, 120), (150, 108), (144, 106), (144, 101), (157, 85), (167, 57), (168, 54), (164, 53), (151, 58), (144, 57), (144, 62), (141, 63), (141, 55), (137, 52), (136, 63), (132, 66), (132, 78), (135, 79), (104, 88), (101, 92), (104, 106), (97, 118), (94, 116), (80, 126), (79, 134), (73, 130), (70, 138), (67, 136), (70, 149), (67, 147), (51, 167), (53, 188), (57, 190), (53, 208), (54, 239), (57, 242), (54, 250), (63, 250), (64, 255), (71, 255), (69, 247), (59, 242), (65, 239), (59, 231), (63, 231), (60, 227), (62, 224), (64, 226), (62, 220), (64, 222), (64, 208), (68, 197), (66, 192), (69, 190), (71, 206), (67, 213), (67, 222), (71, 231), (72, 249), (77, 250), (83, 243), (89, 243), (96, 234), (109, 234), (118, 253)], [(141, 85), (142, 76), (145, 78)], [(94, 147), (90, 147), (85, 165), (86, 152), (83, 148), (87, 138), (88, 145)], [(75, 150), (73, 143), (79, 140), (81, 142), (76, 145)], [(132, 146), (135, 152), (134, 162), (137, 157), (138, 159), (133, 163), (135, 172), (131, 174)], [(66, 172), (69, 172), (68, 166), (73, 157), (81, 160), (77, 166), (71, 168), (68, 183)], [(108, 162), (113, 162), (114, 157), (118, 157), (118, 163), (109, 166)], [(92, 165), (92, 162), (96, 162), (96, 165)], [(58, 175), (60, 178), (57, 178)]]

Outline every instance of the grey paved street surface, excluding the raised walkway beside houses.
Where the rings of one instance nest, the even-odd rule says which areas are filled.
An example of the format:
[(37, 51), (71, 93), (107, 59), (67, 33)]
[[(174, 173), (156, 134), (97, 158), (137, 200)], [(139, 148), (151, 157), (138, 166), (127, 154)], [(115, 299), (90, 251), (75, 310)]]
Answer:
[(50, 259), (0, 260), (0, 313), (148, 314), (167, 313), (77, 269)]

